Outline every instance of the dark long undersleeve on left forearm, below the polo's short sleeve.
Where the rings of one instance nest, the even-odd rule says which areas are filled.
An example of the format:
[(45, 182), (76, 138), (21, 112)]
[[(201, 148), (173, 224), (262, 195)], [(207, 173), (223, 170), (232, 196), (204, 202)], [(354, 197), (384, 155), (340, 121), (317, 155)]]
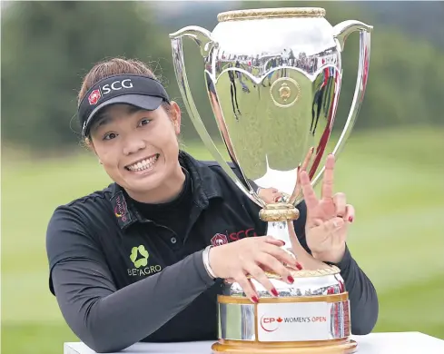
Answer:
[(107, 267), (93, 260), (60, 261), (52, 276), (64, 319), (97, 352), (142, 340), (214, 283), (204, 270), (202, 251), (121, 290)]

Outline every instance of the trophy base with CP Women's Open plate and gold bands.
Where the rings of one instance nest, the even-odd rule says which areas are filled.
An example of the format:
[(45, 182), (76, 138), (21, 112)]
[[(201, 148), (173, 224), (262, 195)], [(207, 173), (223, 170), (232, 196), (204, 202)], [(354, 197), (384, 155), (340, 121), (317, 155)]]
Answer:
[(227, 283), (218, 295), (218, 341), (212, 353), (299, 354), (354, 353), (350, 339), (349, 293), (340, 270), (291, 272), (285, 282), (269, 274), (279, 296), (271, 296), (251, 280), (259, 302), (245, 297), (237, 283)]

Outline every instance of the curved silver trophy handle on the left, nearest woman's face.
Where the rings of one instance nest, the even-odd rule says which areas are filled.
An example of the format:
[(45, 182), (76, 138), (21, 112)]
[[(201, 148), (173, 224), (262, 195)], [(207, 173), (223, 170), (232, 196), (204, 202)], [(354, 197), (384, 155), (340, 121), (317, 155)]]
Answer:
[(221, 165), (222, 170), (229, 175), (237, 187), (247, 197), (249, 197), (252, 202), (262, 206), (260, 199), (254, 198), (252, 192), (245, 187), (238, 176), (232, 171), (232, 168), (223, 159), (221, 152), (219, 152), (216, 145), (212, 142), (212, 137), (202, 122), (201, 115), (199, 114), (196, 104), (194, 103), (194, 99), (192, 98), (192, 92), (190, 85), (188, 84), (188, 78), (185, 71), (185, 63), (183, 58), (183, 37), (191, 38), (197, 45), (199, 45), (203, 58), (208, 57), (212, 48), (217, 46), (217, 43), (212, 40), (212, 34), (210, 31), (195, 25), (183, 27), (179, 31), (170, 34), (173, 48), (174, 73), (176, 75), (177, 83), (179, 84), (179, 90), (182, 93), (183, 103), (185, 104), (185, 108), (190, 115), (194, 128), (201, 137), (202, 142), (205, 144), (207, 149), (212, 153), (212, 157)]

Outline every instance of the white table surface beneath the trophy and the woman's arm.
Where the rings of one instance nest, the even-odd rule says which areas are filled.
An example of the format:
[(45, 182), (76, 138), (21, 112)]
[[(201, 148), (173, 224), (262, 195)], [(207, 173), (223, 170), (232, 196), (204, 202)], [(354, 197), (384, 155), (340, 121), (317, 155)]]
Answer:
[[(444, 354), (444, 340), (419, 332), (370, 333), (352, 336), (356, 354)], [(136, 343), (124, 354), (212, 354), (214, 341), (181, 343)], [(94, 354), (84, 343), (64, 343), (64, 354)], [(115, 353), (117, 354), (117, 353)]]

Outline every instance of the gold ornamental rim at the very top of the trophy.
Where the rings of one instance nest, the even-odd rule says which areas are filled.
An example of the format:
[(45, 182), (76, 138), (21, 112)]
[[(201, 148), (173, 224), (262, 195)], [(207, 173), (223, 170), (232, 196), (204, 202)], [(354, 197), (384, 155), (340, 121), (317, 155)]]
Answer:
[(281, 7), (227, 11), (217, 15), (219, 22), (273, 17), (324, 17), (321, 7)]

